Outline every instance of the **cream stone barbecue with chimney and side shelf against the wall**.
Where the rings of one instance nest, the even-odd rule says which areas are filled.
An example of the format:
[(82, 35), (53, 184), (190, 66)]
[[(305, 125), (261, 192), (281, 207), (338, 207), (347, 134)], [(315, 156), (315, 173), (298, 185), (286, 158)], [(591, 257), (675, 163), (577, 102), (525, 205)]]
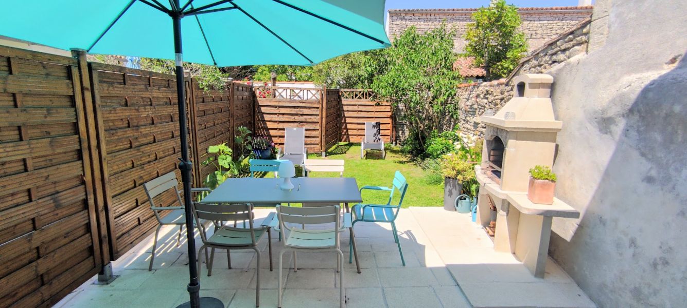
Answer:
[(490, 224), (497, 211), (494, 248), (511, 252), (539, 278), (543, 277), (552, 217), (579, 217), (572, 207), (534, 204), (527, 198), (529, 169), (552, 167), (556, 133), (563, 122), (554, 118), (550, 98), (553, 78), (523, 74), (513, 80), (513, 98), (501, 110), (487, 112), (482, 164), (475, 168), (480, 182), (477, 223)]

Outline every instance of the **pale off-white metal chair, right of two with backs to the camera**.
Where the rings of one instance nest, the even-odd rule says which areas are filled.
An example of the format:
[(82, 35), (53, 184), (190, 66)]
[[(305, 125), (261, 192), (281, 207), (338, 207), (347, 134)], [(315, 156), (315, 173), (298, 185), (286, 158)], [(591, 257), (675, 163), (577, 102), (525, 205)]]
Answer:
[[(293, 251), (293, 271), (297, 270), (296, 252), (297, 251), (330, 251), (337, 254), (337, 272), (339, 272), (339, 296), (340, 307), (346, 305), (343, 289), (343, 252), (339, 247), (339, 232), (341, 222), (339, 220), (339, 206), (323, 207), (291, 207), (277, 206), (280, 233), (284, 239), (284, 248), (279, 254), (279, 298), (278, 307), (282, 307), (282, 261), (284, 252)], [(331, 224), (334, 228), (325, 230), (304, 230), (296, 227), (289, 227), (287, 224)], [(286, 236), (289, 230), (289, 236)]]

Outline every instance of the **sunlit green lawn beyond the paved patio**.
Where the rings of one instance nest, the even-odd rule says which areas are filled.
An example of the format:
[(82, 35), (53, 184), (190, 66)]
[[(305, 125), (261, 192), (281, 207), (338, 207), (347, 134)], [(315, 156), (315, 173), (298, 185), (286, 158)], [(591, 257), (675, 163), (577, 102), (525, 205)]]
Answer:
[[(401, 174), (408, 180), (408, 191), (405, 195), (405, 200), (403, 200), (404, 208), (408, 206), (442, 206), (444, 198), (443, 186), (427, 184), (425, 181), (427, 171), (410, 162), (407, 156), (398, 151), (398, 148), (387, 147), (386, 154), (385, 159), (360, 159), (359, 143), (340, 143), (333, 150), (330, 150), (326, 158), (319, 154), (310, 154), (308, 158), (345, 160), (346, 165), (344, 165), (345, 171), (343, 171), (343, 176), (355, 178), (359, 187), (365, 185), (390, 187), (396, 170), (401, 171)], [(370, 156), (373, 156), (373, 154)], [(297, 170), (296, 173), (300, 174), (300, 170)], [(271, 176), (271, 174), (268, 176)], [(333, 177), (339, 176), (339, 174), (313, 172), (310, 176), (315, 178)], [(399, 197), (394, 196), (394, 204), (398, 204)], [(363, 191), (365, 203), (385, 204), (388, 198), (387, 192)]]

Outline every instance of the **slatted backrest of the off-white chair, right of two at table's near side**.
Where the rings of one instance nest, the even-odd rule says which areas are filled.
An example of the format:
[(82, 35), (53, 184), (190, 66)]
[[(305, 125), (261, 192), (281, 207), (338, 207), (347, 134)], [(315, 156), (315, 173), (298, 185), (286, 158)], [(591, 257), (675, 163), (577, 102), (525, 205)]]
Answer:
[[(279, 218), (280, 233), (282, 238), (286, 238), (286, 230), (291, 230), (287, 223), (290, 224), (331, 224), (334, 223), (334, 228), (331, 231), (337, 233), (336, 243), (339, 242), (339, 233), (336, 232), (341, 228), (339, 214), (341, 213), (340, 206), (321, 206), (321, 207), (295, 207), (295, 206), (277, 206), (277, 215)], [(325, 232), (326, 230), (323, 230)]]

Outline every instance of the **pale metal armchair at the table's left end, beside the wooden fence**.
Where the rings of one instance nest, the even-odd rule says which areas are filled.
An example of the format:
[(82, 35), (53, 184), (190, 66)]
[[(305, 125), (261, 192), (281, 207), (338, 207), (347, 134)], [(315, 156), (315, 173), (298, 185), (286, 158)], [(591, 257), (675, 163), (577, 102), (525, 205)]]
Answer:
[[(186, 224), (185, 211), (183, 208), (183, 201), (181, 201), (181, 191), (178, 189), (179, 182), (177, 181), (177, 175), (174, 171), (159, 176), (143, 185), (144, 191), (146, 191), (146, 196), (148, 196), (148, 202), (150, 202), (150, 209), (155, 213), (155, 219), (157, 220), (157, 229), (155, 229), (155, 241), (153, 241), (153, 255), (150, 256), (150, 265), (148, 265), (148, 270), (153, 270), (153, 260), (155, 260), (155, 250), (157, 249), (157, 235), (160, 233), (160, 228), (165, 225), (175, 225), (179, 226), (179, 235), (177, 236), (177, 246), (181, 244), (181, 230)], [(155, 206), (155, 201), (153, 199), (160, 196), (162, 193), (174, 189), (174, 193), (177, 194), (177, 204), (178, 206)], [(210, 191), (209, 188), (192, 188), (192, 192), (199, 191)], [(161, 215), (161, 212), (168, 212), (167, 215)], [(202, 225), (196, 225), (199, 229), (202, 229)], [(207, 257), (207, 251), (205, 251)]]

